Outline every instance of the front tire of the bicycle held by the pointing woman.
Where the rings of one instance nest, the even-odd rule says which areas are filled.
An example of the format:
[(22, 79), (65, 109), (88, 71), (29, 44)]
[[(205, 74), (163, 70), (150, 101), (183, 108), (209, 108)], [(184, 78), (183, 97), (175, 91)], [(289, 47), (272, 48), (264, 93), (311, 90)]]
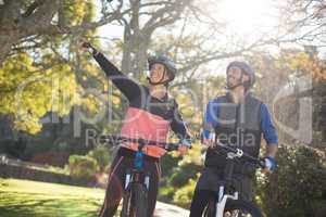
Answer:
[(123, 196), (121, 217), (147, 217), (148, 195), (142, 183), (134, 183)]

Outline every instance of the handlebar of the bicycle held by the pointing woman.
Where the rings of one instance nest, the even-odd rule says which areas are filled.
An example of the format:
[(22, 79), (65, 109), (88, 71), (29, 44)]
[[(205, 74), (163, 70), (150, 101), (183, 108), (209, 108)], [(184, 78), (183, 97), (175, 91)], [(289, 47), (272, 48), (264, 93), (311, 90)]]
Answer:
[(160, 146), (162, 149), (165, 149), (167, 152), (176, 151), (179, 148), (178, 143), (172, 143), (172, 142), (159, 142), (153, 140), (147, 140), (142, 138), (126, 138), (122, 136), (116, 135), (105, 135), (105, 138), (101, 138), (101, 140), (108, 141), (109, 143), (121, 143), (121, 142), (135, 142), (140, 144), (139, 149), (142, 149), (145, 145), (155, 145)]

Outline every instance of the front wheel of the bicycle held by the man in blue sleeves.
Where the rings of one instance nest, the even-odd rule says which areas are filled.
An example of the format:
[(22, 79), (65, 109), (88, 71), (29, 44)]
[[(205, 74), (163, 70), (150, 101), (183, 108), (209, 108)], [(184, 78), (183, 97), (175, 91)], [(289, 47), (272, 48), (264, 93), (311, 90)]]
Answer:
[(223, 217), (263, 217), (253, 204), (241, 200), (228, 200)]

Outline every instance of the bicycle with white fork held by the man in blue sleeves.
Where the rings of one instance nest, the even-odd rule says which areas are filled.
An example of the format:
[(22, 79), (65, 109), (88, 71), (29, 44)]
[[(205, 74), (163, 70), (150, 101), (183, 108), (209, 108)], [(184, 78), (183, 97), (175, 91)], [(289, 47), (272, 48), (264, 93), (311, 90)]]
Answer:
[[(263, 158), (255, 158), (246, 154), (240, 149), (227, 146), (221, 142), (215, 143), (222, 150), (227, 151), (226, 167), (224, 170), (224, 181), (220, 186), (220, 191), (214, 192), (215, 196), (209, 201), (204, 212), (204, 217), (262, 217), (259, 208), (252, 203), (239, 199), (239, 192), (234, 191), (231, 186), (234, 164), (237, 158), (243, 157), (246, 161), (258, 165), (261, 168), (265, 167)], [(227, 193), (225, 193), (227, 192)]]

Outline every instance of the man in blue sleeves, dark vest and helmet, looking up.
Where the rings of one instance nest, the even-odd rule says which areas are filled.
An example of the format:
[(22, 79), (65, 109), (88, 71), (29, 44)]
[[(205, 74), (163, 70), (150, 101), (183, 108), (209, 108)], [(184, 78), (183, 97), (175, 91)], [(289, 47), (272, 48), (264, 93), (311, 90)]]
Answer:
[[(253, 86), (254, 71), (244, 62), (231, 62), (226, 69), (227, 94), (209, 102), (203, 123), (203, 143), (206, 151), (204, 170), (198, 180), (191, 202), (190, 217), (200, 217), (214, 191), (218, 192), (218, 181), (223, 179), (226, 153), (214, 145), (220, 141), (226, 145), (239, 148), (258, 157), (261, 136), (267, 143), (265, 153), (266, 168), (269, 174), (275, 168), (277, 135), (267, 107), (249, 92)], [(244, 161), (234, 167), (234, 186), (242, 200), (250, 201), (251, 182), (255, 167)]]

